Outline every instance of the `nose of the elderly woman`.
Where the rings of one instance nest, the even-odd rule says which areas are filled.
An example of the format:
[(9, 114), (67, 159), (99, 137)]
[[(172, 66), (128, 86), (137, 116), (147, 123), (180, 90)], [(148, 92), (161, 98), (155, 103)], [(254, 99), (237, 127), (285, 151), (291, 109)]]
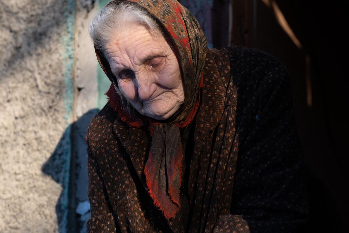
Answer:
[(135, 86), (138, 92), (138, 99), (140, 101), (149, 100), (155, 92), (156, 85), (153, 83), (153, 78), (144, 73), (135, 75)]

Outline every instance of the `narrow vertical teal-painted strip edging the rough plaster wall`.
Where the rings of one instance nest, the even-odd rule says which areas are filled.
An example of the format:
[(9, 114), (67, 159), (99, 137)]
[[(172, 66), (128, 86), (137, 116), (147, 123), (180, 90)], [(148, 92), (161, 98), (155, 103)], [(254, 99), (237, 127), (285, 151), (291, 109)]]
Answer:
[(61, 221), (59, 222), (59, 232), (68, 232), (68, 210), (69, 210), (69, 176), (70, 176), (70, 158), (72, 150), (72, 142), (70, 139), (71, 126), (69, 120), (73, 113), (73, 99), (74, 99), (74, 28), (75, 28), (75, 0), (64, 1), (64, 23), (62, 27), (57, 29), (57, 33), (60, 35), (60, 43), (62, 48), (61, 59), (63, 64), (63, 75), (64, 75), (64, 119), (66, 122), (67, 129), (63, 134), (64, 142), (60, 145), (62, 148), (61, 161), (62, 166), (62, 194), (60, 196), (60, 212), (62, 215)]

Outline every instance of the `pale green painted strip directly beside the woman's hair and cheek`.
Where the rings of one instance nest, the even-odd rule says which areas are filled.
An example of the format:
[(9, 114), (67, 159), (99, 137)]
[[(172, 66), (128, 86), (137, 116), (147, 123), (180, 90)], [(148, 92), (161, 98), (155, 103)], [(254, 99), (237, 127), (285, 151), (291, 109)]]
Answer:
[[(98, 7), (101, 10), (110, 0), (99, 0)], [(102, 68), (98, 65), (97, 68), (97, 84), (98, 84), (98, 96), (97, 96), (97, 108), (102, 109), (107, 103), (107, 97), (105, 93), (110, 87), (110, 80), (105, 75)]]

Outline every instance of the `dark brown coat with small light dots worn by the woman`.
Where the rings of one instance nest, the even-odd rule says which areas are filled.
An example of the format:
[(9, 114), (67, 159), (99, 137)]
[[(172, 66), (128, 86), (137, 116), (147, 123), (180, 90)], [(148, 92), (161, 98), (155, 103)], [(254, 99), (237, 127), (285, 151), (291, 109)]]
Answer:
[(181, 208), (169, 220), (143, 174), (149, 132), (107, 103), (86, 133), (88, 232), (300, 231), (308, 205), (292, 93), (273, 56), (237, 46), (208, 51), (200, 109), (181, 129)]

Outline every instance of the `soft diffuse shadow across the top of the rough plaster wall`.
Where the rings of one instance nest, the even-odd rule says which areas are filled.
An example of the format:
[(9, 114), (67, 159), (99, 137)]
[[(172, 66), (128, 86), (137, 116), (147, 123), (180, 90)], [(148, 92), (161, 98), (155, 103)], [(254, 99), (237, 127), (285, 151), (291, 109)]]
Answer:
[[(65, 50), (71, 49), (72, 37), (68, 37), (67, 34), (72, 34), (74, 30), (75, 1), (46, 2), (45, 5), (34, 2), (28, 6), (27, 10), (18, 10), (11, 4), (3, 4), (0, 1), (3, 11), (11, 15), (10, 19), (2, 22), (5, 28), (9, 29), (12, 37), (7, 41), (6, 52), (9, 55), (4, 56), (2, 60), (5, 73), (14, 70), (22, 61), (27, 60), (28, 56), (41, 56), (40, 49), (55, 53), (57, 45), (54, 43), (59, 39), (61, 44), (67, 44)], [(79, 3), (79, 6), (78, 10), (86, 10), (88, 14), (95, 7), (95, 0), (84, 0)], [(23, 8), (26, 7), (23, 6)], [(62, 41), (64, 39), (67, 41)], [(39, 66), (39, 68), (42, 67)], [(10, 75), (2, 75), (0, 79), (8, 77)]]

